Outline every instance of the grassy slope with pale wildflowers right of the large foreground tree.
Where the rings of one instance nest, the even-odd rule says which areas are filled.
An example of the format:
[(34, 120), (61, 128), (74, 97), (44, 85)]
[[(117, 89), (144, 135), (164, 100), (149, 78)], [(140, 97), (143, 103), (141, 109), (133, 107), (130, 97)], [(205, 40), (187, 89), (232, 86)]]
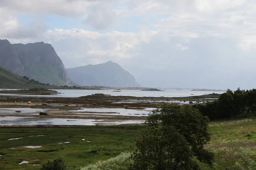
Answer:
[(255, 170), (256, 119), (211, 122), (209, 132), (212, 139), (205, 147), (215, 154), (214, 170)]

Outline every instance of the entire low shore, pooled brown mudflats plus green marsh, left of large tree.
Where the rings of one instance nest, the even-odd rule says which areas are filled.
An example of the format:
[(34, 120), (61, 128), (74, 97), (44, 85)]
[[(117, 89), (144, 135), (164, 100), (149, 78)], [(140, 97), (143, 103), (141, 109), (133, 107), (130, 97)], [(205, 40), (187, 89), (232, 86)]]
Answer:
[(206, 102), (208, 97), (0, 96), (0, 169), (36, 170), (62, 155), (70, 170), (79, 170), (132, 152), (134, 138), (155, 108)]

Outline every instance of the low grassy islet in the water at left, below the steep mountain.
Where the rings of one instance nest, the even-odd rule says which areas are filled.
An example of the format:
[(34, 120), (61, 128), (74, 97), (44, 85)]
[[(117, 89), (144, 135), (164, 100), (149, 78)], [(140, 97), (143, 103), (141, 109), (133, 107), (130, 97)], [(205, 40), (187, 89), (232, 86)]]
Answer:
[(48, 90), (46, 88), (30, 88), (30, 89), (20, 89), (20, 90), (3, 90), (0, 94), (36, 94), (36, 95), (50, 95), (50, 94), (60, 94), (58, 91)]

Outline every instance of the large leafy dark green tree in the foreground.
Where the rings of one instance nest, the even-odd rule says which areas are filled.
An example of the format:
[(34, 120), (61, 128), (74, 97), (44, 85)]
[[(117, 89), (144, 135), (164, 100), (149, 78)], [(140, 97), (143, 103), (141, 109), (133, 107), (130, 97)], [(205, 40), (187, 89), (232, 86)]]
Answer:
[(204, 149), (209, 140), (209, 119), (196, 108), (163, 105), (148, 116), (136, 139), (134, 170), (199, 170), (195, 159), (212, 165)]

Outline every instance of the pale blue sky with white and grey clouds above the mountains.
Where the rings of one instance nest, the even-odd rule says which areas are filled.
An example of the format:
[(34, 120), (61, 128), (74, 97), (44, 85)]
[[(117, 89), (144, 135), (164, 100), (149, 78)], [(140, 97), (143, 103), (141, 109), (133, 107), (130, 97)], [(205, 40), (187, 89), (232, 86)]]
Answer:
[(144, 87), (256, 88), (255, 0), (0, 0), (0, 39), (109, 60)]

